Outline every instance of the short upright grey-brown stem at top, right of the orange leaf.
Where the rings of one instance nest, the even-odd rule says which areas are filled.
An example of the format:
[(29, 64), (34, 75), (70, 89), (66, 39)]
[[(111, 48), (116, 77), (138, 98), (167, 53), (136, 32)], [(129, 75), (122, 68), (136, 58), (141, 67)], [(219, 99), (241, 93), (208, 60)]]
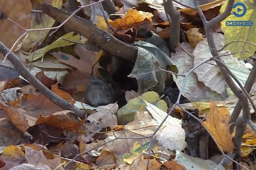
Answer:
[[(180, 42), (180, 11), (175, 9), (172, 0), (163, 0), (163, 6), (166, 13), (171, 17), (169, 21), (170, 31), (170, 50), (175, 53), (175, 48)], [(167, 18), (169, 18), (167, 16)]]

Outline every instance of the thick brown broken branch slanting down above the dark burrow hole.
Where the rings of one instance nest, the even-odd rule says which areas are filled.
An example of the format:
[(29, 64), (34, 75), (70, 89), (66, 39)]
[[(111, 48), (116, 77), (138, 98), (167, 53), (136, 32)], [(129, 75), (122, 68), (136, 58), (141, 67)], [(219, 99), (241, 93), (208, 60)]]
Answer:
[[(46, 3), (42, 3), (42, 11), (59, 23), (64, 22), (71, 15), (69, 12), (54, 8)], [(105, 50), (110, 54), (128, 59), (132, 62), (136, 61), (136, 47), (116, 39), (111, 34), (108, 34), (81, 17), (74, 15), (70, 20), (67, 20), (65, 26), (91, 40), (96, 45), (99, 45), (102, 50)], [(110, 37), (110, 41), (107, 42), (105, 37)]]

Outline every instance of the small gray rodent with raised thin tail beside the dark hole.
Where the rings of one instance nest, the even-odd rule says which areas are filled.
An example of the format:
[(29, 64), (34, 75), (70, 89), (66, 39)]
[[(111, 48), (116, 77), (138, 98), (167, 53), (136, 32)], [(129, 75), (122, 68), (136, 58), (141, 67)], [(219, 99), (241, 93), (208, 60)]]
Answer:
[(99, 59), (92, 67), (92, 73), (90, 76), (91, 82), (88, 85), (84, 96), (85, 102), (93, 107), (116, 102), (116, 91), (113, 86), (110, 83), (105, 83), (101, 79), (93, 77), (93, 68), (98, 61)]

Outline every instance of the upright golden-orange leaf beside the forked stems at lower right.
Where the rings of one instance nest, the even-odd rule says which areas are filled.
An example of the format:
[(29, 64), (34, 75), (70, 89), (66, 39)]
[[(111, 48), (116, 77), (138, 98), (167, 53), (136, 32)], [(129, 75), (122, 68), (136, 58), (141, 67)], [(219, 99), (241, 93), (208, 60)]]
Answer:
[(221, 149), (225, 152), (232, 153), (234, 144), (232, 142), (233, 136), (230, 133), (231, 124), (225, 124), (227, 112), (223, 113), (223, 110), (224, 108), (219, 110), (215, 102), (210, 100), (210, 111), (206, 117), (207, 121), (203, 123), (218, 142)]

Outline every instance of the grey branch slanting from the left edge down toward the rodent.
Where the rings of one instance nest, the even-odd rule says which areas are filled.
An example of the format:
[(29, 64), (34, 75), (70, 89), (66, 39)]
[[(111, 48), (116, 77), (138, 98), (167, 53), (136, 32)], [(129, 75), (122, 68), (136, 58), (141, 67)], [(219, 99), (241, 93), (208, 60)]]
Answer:
[[(0, 42), (0, 52), (5, 56), (10, 50), (2, 43)], [(29, 70), (23, 65), (23, 63), (20, 61), (20, 59), (10, 52), (8, 56), (9, 61), (12, 63), (14, 68), (18, 71), (18, 73), (24, 77), (26, 80), (29, 81), (29, 83), (35, 87), (41, 94), (47, 97), (51, 102), (58, 105), (60, 108), (64, 110), (70, 110), (76, 113), (81, 119), (85, 118), (84, 111), (80, 110), (79, 108), (76, 108), (74, 105), (70, 104), (66, 100), (62, 99), (60, 96), (56, 95), (52, 91), (50, 91), (42, 82), (40, 82), (38, 79), (36, 79)]]

